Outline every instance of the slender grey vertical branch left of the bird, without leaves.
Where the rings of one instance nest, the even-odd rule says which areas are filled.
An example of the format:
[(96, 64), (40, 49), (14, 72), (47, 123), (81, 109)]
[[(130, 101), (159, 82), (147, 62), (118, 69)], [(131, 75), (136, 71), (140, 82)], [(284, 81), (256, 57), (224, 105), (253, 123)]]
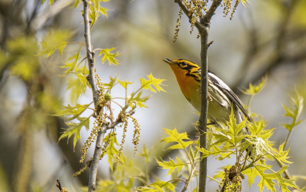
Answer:
[[(89, 75), (87, 79), (91, 86), (96, 115), (98, 117), (101, 107), (97, 105), (98, 99), (99, 99), (99, 91), (97, 89), (97, 84), (95, 82), (95, 63), (93, 59), (94, 53), (92, 52), (92, 48), (91, 48), (89, 5), (88, 5), (87, 0), (83, 0), (83, 6), (84, 6), (83, 17), (84, 17), (84, 29), (85, 29), (84, 37), (85, 37), (85, 43), (86, 43), (86, 55), (87, 55), (88, 69), (89, 69)], [(91, 160), (91, 164), (89, 167), (88, 192), (95, 191), (95, 188), (96, 188), (95, 183), (96, 183), (96, 177), (97, 177), (97, 172), (98, 172), (98, 164), (100, 160), (100, 154), (102, 150), (104, 134), (107, 129), (108, 129), (108, 125), (103, 123), (101, 126), (101, 129), (98, 131), (98, 134), (97, 134), (95, 151), (94, 151), (94, 154)]]

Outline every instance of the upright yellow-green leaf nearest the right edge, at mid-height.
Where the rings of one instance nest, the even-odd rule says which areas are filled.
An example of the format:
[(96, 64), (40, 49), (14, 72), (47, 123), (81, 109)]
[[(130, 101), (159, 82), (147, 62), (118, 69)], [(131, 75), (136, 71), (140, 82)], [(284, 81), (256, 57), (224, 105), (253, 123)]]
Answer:
[(293, 107), (291, 106), (287, 107), (284, 104), (282, 104), (286, 112), (284, 116), (292, 118), (292, 123), (282, 124), (282, 126), (285, 129), (288, 129), (289, 131), (291, 131), (296, 125), (302, 122), (301, 120), (297, 121), (297, 119), (300, 117), (300, 114), (303, 111), (304, 98), (297, 92), (297, 90), (295, 90), (295, 92), (296, 92), (295, 96), (290, 96), (291, 104), (293, 104)]

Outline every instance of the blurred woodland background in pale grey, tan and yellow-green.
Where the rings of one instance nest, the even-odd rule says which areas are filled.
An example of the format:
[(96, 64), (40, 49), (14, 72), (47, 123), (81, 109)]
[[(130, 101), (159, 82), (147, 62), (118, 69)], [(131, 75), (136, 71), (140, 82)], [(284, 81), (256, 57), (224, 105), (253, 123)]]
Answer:
[[(31, 57), (35, 54), (32, 50), (40, 46), (39, 42), (50, 30), (68, 30), (69, 35), (60, 34), (63, 41), (84, 41), (82, 5), (73, 9), (67, 3), (67, 0), (56, 0), (48, 6), (48, 2), (42, 5), (41, 0), (0, 0), (0, 191), (58, 191), (55, 186), (58, 178), (69, 191), (80, 191), (81, 186), (88, 185), (88, 170), (75, 178), (72, 175), (84, 166), (79, 163), (79, 151), (89, 132), (82, 129), (82, 139), (74, 152), (73, 138), (68, 144), (67, 138), (58, 142), (61, 128), (67, 128), (63, 118), (50, 116), (61, 105), (70, 103), (71, 92), (66, 92), (69, 79), (60, 76), (65, 70), (60, 66), (79, 45), (67, 46), (62, 56), (56, 51), (47, 59)], [(247, 103), (249, 96), (240, 90), (247, 88), (249, 82), (258, 83), (267, 76), (267, 85), (252, 98), (249, 110), (269, 121), (267, 128), (278, 128), (271, 138), (278, 146), (288, 135), (281, 123), (291, 122), (282, 116), (285, 113), (282, 103), (289, 104), (289, 94), (295, 88), (306, 95), (306, 1), (252, 0), (247, 5), (240, 4), (232, 20), (229, 16), (223, 17), (223, 7), (217, 9), (209, 34), (209, 41), (214, 41), (209, 48), (209, 70), (222, 78), (243, 103)], [(179, 13), (174, 1), (111, 0), (101, 6), (109, 9), (108, 18), (101, 16), (92, 28), (93, 47), (105, 49), (118, 45), (117, 50), (123, 53), (118, 57), (122, 63), (119, 66), (102, 64), (96, 59), (102, 81), (107, 82), (108, 75), (117, 74), (120, 79), (134, 82), (128, 89), (132, 92), (138, 89), (139, 79), (146, 78), (146, 74), (167, 80), (163, 82), (167, 92), (154, 94), (147, 101), (148, 108), (140, 108), (133, 115), (141, 127), (138, 151), (145, 144), (150, 151), (150, 172), (166, 176), (167, 171), (156, 166), (154, 157), (167, 159), (179, 154), (168, 154), (165, 143), (159, 143), (166, 136), (161, 128), (176, 127), (179, 132), (186, 131), (194, 137), (196, 132), (191, 123), (197, 121), (198, 115), (162, 59), (200, 63), (196, 29), (190, 34), (190, 24), (182, 15), (178, 39), (173, 42)], [(6, 59), (7, 55), (11, 59)], [(23, 76), (17, 75), (17, 69), (24, 71)], [(116, 86), (112, 96), (122, 95), (124, 89)], [(78, 99), (81, 104), (91, 101), (90, 89)], [(119, 109), (115, 107), (116, 112)], [(304, 127), (302, 122), (289, 138), (289, 161), (294, 162), (288, 169), (291, 175), (306, 175)], [(116, 132), (120, 141), (122, 130)], [(140, 156), (132, 155), (132, 134), (131, 125), (123, 152), (126, 158), (137, 161)], [(88, 158), (92, 153), (90, 149)], [(215, 175), (222, 166), (234, 161), (208, 158), (208, 175)], [(99, 171), (99, 179), (109, 178), (105, 158), (99, 164)], [(297, 184), (303, 187), (305, 182), (298, 180)], [(259, 191), (256, 185), (248, 188), (245, 179), (242, 191)], [(208, 182), (207, 191), (217, 189), (218, 183)]]

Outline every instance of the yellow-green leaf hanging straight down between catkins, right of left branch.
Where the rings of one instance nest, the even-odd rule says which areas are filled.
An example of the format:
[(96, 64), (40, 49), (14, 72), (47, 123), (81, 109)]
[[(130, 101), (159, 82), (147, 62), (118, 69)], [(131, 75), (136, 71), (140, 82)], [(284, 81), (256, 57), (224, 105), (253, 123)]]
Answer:
[(119, 153), (118, 149), (115, 147), (115, 144), (119, 146), (117, 142), (117, 138), (114, 132), (112, 132), (110, 135), (107, 135), (103, 142), (105, 143), (107, 139), (110, 138), (110, 143), (106, 147), (106, 150), (104, 151), (103, 155), (107, 155), (108, 157), (108, 163), (110, 164), (110, 170), (113, 171), (114, 166), (113, 166), (113, 160), (116, 160), (117, 155)]

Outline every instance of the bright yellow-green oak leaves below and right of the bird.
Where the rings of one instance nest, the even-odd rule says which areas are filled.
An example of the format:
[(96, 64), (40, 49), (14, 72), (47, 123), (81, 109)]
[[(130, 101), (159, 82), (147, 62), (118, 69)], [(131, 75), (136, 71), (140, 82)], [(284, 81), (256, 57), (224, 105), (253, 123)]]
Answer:
[[(254, 95), (258, 93), (264, 86), (265, 79), (258, 86), (250, 85), (248, 93)], [(300, 112), (303, 108), (303, 98), (297, 96), (291, 97), (293, 107), (284, 107), (286, 114), (293, 119), (289, 125), (297, 125)], [(289, 126), (288, 125), (288, 126)], [(290, 191), (289, 188), (298, 189), (295, 180), (292, 178), (284, 177), (284, 173), (291, 164), (289, 159), (289, 150), (285, 148), (285, 143), (279, 145), (278, 148), (273, 147), (271, 138), (274, 129), (266, 129), (266, 122), (262, 118), (254, 123), (237, 122), (233, 110), (229, 115), (229, 121), (226, 124), (219, 123), (219, 126), (211, 126), (207, 129), (207, 149), (199, 146), (199, 141), (191, 140), (187, 134), (178, 133), (177, 130), (164, 129), (168, 135), (162, 139), (162, 142), (171, 144), (167, 150), (180, 150), (181, 155), (176, 156), (174, 159), (168, 160), (156, 159), (156, 162), (162, 169), (167, 169), (167, 175), (171, 175), (169, 181), (163, 181), (163, 184), (171, 183), (171, 187), (167, 185), (156, 186), (146, 185), (138, 187), (138, 191), (171, 191), (173, 187), (177, 187), (177, 182), (184, 182), (184, 191), (193, 177), (197, 177), (198, 173), (193, 168), (205, 157), (215, 157), (216, 160), (225, 160), (226, 158), (235, 157), (236, 162), (234, 165), (228, 165), (223, 171), (218, 171), (213, 177), (208, 178), (219, 183), (220, 191), (241, 191), (241, 180), (247, 177), (248, 184), (256, 183), (255, 178), (259, 177), (257, 186), (260, 191), (266, 187), (270, 191), (277, 191), (279, 188), (282, 191)], [(245, 151), (248, 151), (245, 153)], [(202, 154), (200, 158), (200, 153)], [(184, 154), (184, 155), (182, 155)], [(277, 161), (281, 168), (276, 170), (272, 165), (267, 165), (265, 159), (270, 158)], [(155, 178), (155, 182), (160, 182)], [(197, 179), (196, 179), (197, 180)], [(194, 189), (197, 191), (197, 188)]]

